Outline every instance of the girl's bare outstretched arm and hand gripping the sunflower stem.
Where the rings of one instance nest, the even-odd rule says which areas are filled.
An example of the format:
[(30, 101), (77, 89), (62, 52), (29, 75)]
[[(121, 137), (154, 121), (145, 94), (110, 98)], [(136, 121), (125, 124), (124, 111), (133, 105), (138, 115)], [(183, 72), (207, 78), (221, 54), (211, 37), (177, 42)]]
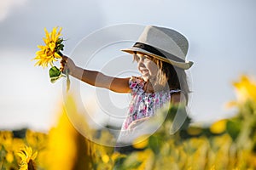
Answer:
[(99, 71), (85, 70), (75, 65), (72, 59), (67, 56), (62, 56), (61, 71), (65, 71), (67, 69), (69, 70), (69, 75), (92, 86), (108, 88), (113, 92), (118, 93), (129, 93), (131, 91), (131, 88), (129, 88), (129, 77), (109, 77)]

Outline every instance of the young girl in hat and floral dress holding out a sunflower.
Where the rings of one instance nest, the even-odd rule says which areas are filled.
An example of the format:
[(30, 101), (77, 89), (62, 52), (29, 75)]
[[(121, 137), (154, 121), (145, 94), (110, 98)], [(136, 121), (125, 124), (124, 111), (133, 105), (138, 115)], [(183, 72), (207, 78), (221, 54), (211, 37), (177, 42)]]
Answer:
[(154, 116), (166, 103), (188, 103), (189, 87), (184, 70), (193, 62), (186, 61), (189, 43), (172, 29), (146, 26), (132, 48), (122, 51), (133, 54), (141, 77), (109, 77), (99, 71), (89, 71), (63, 56), (61, 70), (90, 85), (108, 88), (117, 93), (131, 93), (128, 115), (122, 132)]

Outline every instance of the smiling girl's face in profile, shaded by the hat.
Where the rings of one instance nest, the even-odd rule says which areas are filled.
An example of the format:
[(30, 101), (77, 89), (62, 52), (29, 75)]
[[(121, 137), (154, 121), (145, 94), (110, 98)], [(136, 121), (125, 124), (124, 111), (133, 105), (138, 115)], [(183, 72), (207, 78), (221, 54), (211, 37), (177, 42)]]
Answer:
[(158, 66), (152, 60), (152, 57), (146, 54), (133, 54), (134, 59), (137, 61), (137, 69), (143, 76), (144, 81), (148, 81), (151, 78), (156, 77)]

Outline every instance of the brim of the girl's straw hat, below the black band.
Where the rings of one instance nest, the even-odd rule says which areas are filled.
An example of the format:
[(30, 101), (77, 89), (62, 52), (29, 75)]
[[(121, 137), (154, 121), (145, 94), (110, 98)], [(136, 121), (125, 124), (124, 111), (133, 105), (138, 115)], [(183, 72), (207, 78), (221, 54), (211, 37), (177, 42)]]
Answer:
[(136, 47), (132, 47), (132, 48), (125, 48), (125, 49), (121, 49), (121, 51), (129, 53), (129, 54), (133, 54), (134, 52), (139, 52), (139, 53), (143, 53), (143, 54), (148, 54), (149, 56), (152, 56), (156, 59), (160, 59), (166, 63), (169, 63), (171, 65), (175, 65), (181, 69), (187, 70), (189, 69), (194, 63), (192, 61), (186, 61), (186, 62), (177, 62), (174, 61), (172, 59), (166, 59), (160, 55), (156, 55), (153, 53), (148, 52), (147, 50), (144, 50), (142, 48), (136, 48)]

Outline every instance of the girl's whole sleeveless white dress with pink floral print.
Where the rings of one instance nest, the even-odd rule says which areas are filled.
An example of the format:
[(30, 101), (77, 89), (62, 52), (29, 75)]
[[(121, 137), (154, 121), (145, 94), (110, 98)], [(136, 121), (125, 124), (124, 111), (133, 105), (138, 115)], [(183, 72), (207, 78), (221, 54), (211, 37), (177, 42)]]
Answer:
[(180, 89), (176, 89), (148, 94), (143, 89), (145, 83), (142, 77), (131, 77), (129, 80), (131, 103), (119, 132), (115, 151), (125, 153), (134, 150), (131, 146), (132, 141), (143, 133), (148, 133), (148, 127), (145, 128), (140, 124), (147, 118), (154, 116), (155, 112), (167, 102), (170, 103), (172, 94), (181, 92)]

